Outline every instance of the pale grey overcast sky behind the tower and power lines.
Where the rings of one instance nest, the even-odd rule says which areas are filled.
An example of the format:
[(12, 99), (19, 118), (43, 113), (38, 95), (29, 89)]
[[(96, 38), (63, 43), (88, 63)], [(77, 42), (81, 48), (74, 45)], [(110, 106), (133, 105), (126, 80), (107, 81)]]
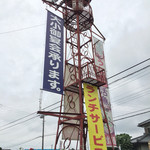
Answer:
[[(106, 37), (104, 50), (108, 77), (150, 58), (149, 0), (93, 0), (91, 6), (94, 23)], [(45, 9), (46, 6), (40, 0), (0, 1), (2, 148), (41, 148), (39, 136), (42, 134), (42, 120), (36, 114), (16, 120), (39, 110), (45, 50)], [(50, 10), (54, 12), (52, 8)], [(108, 81), (111, 83), (148, 65), (150, 61)], [(150, 110), (149, 67), (109, 87), (114, 120), (119, 115), (127, 116), (133, 111)], [(60, 101), (59, 95), (48, 92), (43, 92), (41, 98), (42, 108)], [(58, 106), (56, 104), (47, 110)], [(137, 127), (137, 124), (149, 119), (149, 116), (150, 113), (147, 113), (114, 122), (116, 134), (128, 133), (132, 137), (142, 135), (144, 130)], [(20, 123), (32, 117), (35, 118)], [(56, 123), (57, 118), (46, 117), (45, 148), (54, 145)]]

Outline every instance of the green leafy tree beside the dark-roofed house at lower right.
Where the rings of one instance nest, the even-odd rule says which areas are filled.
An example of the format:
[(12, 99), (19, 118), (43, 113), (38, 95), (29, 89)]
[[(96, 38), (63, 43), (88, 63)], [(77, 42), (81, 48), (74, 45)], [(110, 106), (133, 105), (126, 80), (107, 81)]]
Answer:
[(131, 136), (128, 134), (116, 135), (117, 146), (121, 146), (121, 150), (132, 150)]

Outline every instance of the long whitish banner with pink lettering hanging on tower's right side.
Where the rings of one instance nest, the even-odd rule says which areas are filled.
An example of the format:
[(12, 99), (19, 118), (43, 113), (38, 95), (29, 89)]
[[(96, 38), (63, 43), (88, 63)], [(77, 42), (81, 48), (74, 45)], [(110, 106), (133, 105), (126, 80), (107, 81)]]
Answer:
[[(97, 39), (96, 37), (92, 37), (92, 38), (93, 38), (93, 44), (94, 44), (94, 49), (95, 49), (95, 53), (94, 53), (95, 54), (94, 55), (95, 56), (94, 57), (95, 65), (106, 70), (103, 42), (100, 41), (99, 39)], [(108, 86), (107, 85), (101, 86), (100, 92), (101, 92), (102, 101), (104, 104), (104, 109), (105, 109), (105, 113), (107, 116), (108, 125), (109, 125), (109, 129), (110, 129), (110, 134), (111, 134), (111, 137), (110, 137), (110, 134), (108, 132), (108, 127), (106, 124), (104, 124), (106, 144), (107, 144), (107, 146), (111, 147), (112, 146), (111, 139), (112, 139), (113, 146), (116, 146), (116, 138), (115, 138), (113, 119), (112, 119), (112, 111), (111, 111), (111, 105), (110, 105)]]

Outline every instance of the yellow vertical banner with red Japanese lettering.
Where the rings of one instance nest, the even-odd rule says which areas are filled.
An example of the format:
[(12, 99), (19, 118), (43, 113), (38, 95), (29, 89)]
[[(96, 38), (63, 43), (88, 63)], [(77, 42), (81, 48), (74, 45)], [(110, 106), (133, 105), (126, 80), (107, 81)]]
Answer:
[(97, 87), (84, 83), (90, 150), (107, 150)]

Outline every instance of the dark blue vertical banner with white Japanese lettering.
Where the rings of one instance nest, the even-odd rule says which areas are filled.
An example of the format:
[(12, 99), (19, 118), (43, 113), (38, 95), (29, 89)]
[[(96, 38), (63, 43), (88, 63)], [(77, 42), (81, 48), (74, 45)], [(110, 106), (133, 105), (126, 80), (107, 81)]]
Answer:
[(47, 11), (43, 90), (63, 93), (63, 19)]

